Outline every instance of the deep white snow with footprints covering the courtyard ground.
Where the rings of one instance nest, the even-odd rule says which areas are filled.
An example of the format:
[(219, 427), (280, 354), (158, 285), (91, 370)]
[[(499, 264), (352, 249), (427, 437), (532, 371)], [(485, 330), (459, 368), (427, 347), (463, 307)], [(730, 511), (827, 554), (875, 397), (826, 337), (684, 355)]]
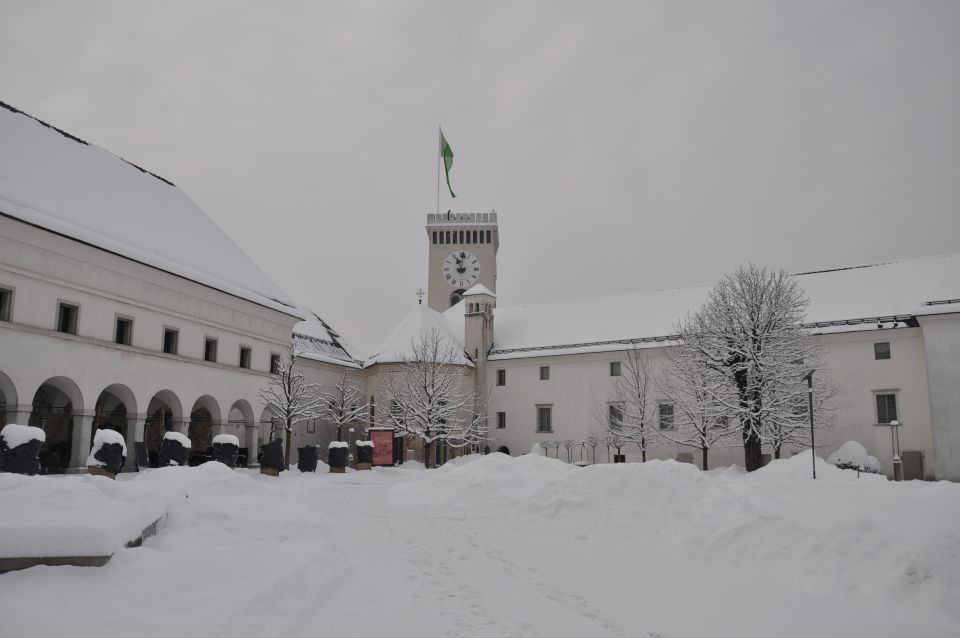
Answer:
[(116, 484), (163, 533), (0, 575), (0, 636), (960, 635), (960, 485), (809, 465), (164, 468)]

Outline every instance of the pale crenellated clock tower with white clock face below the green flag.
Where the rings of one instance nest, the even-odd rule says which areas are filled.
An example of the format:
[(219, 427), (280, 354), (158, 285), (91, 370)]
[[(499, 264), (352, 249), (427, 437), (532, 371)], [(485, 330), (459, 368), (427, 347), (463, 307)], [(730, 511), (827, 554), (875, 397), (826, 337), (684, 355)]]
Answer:
[(427, 305), (443, 312), (475, 284), (497, 290), (500, 232), (496, 213), (427, 215)]

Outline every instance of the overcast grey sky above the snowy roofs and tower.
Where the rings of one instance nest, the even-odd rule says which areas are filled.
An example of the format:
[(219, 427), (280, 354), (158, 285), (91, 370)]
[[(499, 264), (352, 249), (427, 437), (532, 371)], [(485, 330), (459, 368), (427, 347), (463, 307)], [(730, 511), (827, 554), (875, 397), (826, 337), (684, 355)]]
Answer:
[(0, 99), (175, 182), (365, 354), (426, 286), (438, 122), (501, 305), (960, 250), (952, 0), (2, 0)]

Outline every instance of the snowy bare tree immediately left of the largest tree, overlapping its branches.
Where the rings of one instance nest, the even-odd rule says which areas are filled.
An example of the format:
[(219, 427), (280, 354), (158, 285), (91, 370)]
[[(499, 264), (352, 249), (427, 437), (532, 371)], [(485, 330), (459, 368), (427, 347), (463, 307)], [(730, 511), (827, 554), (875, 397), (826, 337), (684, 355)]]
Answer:
[(701, 464), (706, 470), (710, 448), (727, 442), (736, 430), (730, 426), (724, 403), (715, 398), (722, 388), (708, 387), (711, 371), (693, 349), (667, 348), (664, 358), (657, 386), (675, 409), (674, 427), (658, 429), (657, 435), (671, 443), (700, 450)]

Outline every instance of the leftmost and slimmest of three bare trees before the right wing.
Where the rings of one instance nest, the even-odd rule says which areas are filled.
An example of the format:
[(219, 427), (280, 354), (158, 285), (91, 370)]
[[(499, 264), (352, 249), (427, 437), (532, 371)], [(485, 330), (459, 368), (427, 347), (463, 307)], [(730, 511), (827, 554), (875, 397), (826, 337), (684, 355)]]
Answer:
[(643, 350), (627, 351), (621, 362), (609, 401), (597, 407), (596, 420), (605, 433), (607, 444), (622, 454), (622, 448), (634, 443), (640, 448), (641, 460), (647, 460), (647, 447), (655, 438), (650, 391), (653, 382), (650, 360)]

